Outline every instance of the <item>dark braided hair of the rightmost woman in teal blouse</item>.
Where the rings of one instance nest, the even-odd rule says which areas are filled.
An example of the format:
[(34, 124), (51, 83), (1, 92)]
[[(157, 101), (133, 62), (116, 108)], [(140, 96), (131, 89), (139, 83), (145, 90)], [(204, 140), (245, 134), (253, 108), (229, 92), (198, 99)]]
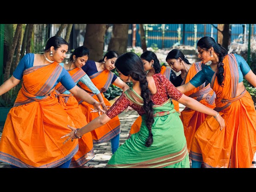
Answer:
[(213, 47), (214, 52), (218, 54), (219, 63), (218, 63), (218, 71), (216, 73), (218, 84), (220, 86), (223, 86), (224, 81), (224, 64), (222, 63), (224, 56), (228, 54), (228, 51), (221, 46), (221, 44), (216, 43), (215, 40), (211, 37), (205, 36), (200, 38), (197, 42), (197, 46), (199, 46), (203, 50), (209, 50), (211, 47)]

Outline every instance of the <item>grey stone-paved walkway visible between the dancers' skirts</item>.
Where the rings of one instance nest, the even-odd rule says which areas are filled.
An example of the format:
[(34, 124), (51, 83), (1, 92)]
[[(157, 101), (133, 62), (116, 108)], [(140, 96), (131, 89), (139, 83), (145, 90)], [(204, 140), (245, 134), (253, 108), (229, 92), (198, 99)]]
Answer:
[[(184, 106), (180, 104), (180, 111), (183, 110), (183, 108)], [(118, 117), (121, 123), (119, 142), (120, 146), (126, 141), (130, 132), (130, 127), (138, 116), (138, 113), (134, 110), (129, 110), (128, 112), (122, 112), (119, 114)], [(2, 136), (2, 130), (3, 127), (0, 127), (0, 138)], [(86, 166), (93, 166), (94, 168), (106, 168), (106, 164), (112, 155), (110, 141), (101, 144), (95, 144), (94, 154), (95, 157), (90, 160), (90, 162), (86, 163)], [(10, 165), (4, 162), (0, 162), (0, 168), (10, 168)]]

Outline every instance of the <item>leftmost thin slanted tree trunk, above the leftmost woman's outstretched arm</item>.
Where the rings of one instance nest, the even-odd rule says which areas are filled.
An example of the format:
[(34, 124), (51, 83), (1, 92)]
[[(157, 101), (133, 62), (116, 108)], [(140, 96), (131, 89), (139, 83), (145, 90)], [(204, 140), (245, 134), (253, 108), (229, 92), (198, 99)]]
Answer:
[(8, 80), (8, 78), (10, 78), (10, 70), (11, 70), (11, 66), (12, 66), (14, 50), (16, 48), (18, 38), (19, 38), (19, 34), (20, 34), (21, 30), (22, 30), (22, 24), (17, 24), (16, 31), (15, 31), (14, 38), (13, 38), (13, 42), (12, 42), (12, 48), (10, 49), (10, 52), (8, 54), (8, 60), (7, 60), (7, 63), (6, 63), (6, 68), (5, 68), (5, 73), (4, 73), (4, 82), (6, 80)]

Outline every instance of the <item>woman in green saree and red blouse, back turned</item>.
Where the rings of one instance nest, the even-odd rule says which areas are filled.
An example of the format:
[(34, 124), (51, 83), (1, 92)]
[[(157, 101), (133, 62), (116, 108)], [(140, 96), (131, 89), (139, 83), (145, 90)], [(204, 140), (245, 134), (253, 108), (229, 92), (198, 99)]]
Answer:
[(172, 99), (188, 108), (214, 116), (222, 128), (223, 118), (218, 112), (182, 94), (162, 74), (147, 77), (140, 57), (132, 52), (119, 56), (115, 66), (124, 82), (132, 81), (132, 88), (122, 93), (106, 113), (86, 126), (68, 126), (72, 131), (61, 137), (68, 137), (64, 144), (106, 124), (130, 106), (142, 116), (140, 131), (132, 134), (118, 148), (108, 161), (107, 167), (189, 168), (184, 129), (179, 114), (174, 110)]

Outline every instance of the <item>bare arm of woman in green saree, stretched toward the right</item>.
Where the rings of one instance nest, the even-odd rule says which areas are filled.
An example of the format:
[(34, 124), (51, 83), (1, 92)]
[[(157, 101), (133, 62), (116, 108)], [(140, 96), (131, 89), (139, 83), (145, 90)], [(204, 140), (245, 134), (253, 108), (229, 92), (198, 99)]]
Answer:
[(209, 107), (206, 107), (205, 105), (201, 104), (197, 100), (183, 94), (181, 98), (178, 100), (178, 102), (192, 110), (199, 111), (208, 115), (216, 116), (215, 119), (220, 124), (220, 130), (222, 130), (225, 127), (224, 119), (222, 118), (222, 116), (218, 115), (218, 112), (216, 112), (215, 110)]

